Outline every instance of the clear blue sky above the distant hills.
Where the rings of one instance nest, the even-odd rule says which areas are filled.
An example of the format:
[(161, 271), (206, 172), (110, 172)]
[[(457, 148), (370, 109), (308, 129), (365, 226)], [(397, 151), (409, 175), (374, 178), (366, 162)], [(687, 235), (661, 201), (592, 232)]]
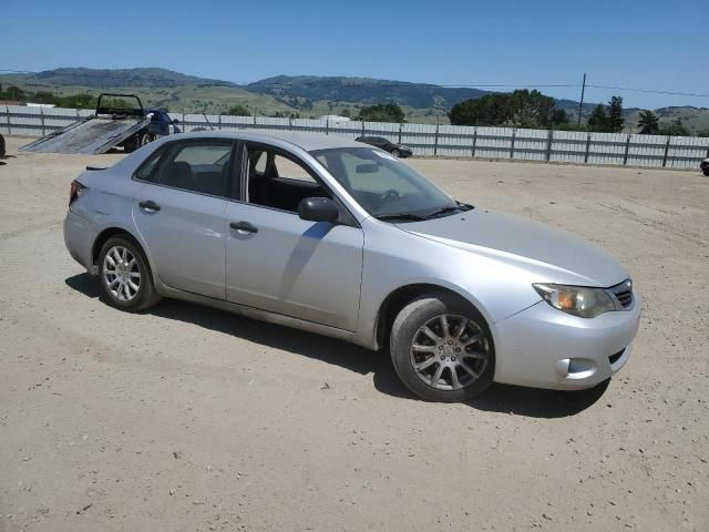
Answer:
[[(708, 21), (708, 0), (9, 1), (0, 69), (163, 66), (236, 82), (285, 73), (516, 86), (579, 83), (586, 72), (596, 85), (709, 94)], [(709, 106), (709, 98), (593, 88), (586, 101), (612, 94), (627, 106)]]

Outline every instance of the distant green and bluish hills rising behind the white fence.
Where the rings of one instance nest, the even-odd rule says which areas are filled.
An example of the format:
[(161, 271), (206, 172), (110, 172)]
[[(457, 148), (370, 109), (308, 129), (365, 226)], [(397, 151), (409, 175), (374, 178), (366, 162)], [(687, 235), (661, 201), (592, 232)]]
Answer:
[[(146, 106), (172, 112), (225, 113), (244, 105), (257, 115), (317, 117), (323, 114), (356, 115), (360, 108), (373, 103), (395, 102), (408, 122), (446, 123), (446, 113), (455, 103), (480, 98), (489, 91), (448, 88), (430, 83), (410, 83), (371, 78), (277, 75), (246, 85), (224, 80), (187, 75), (161, 68), (86, 69), (61, 68), (44, 72), (1, 74), (2, 86), (17, 85), (37, 93), (56, 95), (122, 92), (138, 94)], [(596, 103), (585, 103), (584, 117)], [(578, 102), (557, 100), (556, 106), (572, 116)], [(626, 109), (626, 126), (636, 127), (639, 109)], [(707, 108), (662, 108), (655, 110), (660, 122), (680, 119), (691, 131), (709, 129)]]

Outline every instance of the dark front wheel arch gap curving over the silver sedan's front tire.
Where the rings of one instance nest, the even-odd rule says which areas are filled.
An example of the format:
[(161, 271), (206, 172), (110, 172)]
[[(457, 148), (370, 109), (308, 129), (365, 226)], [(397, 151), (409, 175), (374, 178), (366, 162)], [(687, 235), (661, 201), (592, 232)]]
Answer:
[(432, 291), (439, 291), (449, 294), (452, 297), (460, 299), (465, 305), (470, 306), (473, 311), (476, 311), (487, 324), (487, 327), (493, 334), (493, 321), (487, 316), (487, 313), (481, 308), (477, 301), (471, 300), (470, 297), (452, 289), (450, 287), (438, 285), (433, 283), (414, 283), (404, 286), (400, 286), (395, 290), (391, 291), (381, 303), (379, 311), (377, 313), (377, 321), (374, 325), (374, 342), (376, 349), (381, 349), (389, 345), (389, 335), (394, 319), (409, 303), (419, 296), (429, 294)]

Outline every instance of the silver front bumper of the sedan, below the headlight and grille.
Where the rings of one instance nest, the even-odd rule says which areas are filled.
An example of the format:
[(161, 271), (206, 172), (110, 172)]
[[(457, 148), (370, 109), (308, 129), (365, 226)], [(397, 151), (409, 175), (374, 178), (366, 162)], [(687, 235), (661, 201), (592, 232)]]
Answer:
[(579, 390), (616, 374), (630, 357), (640, 301), (595, 318), (564, 314), (544, 301), (495, 324), (495, 381)]

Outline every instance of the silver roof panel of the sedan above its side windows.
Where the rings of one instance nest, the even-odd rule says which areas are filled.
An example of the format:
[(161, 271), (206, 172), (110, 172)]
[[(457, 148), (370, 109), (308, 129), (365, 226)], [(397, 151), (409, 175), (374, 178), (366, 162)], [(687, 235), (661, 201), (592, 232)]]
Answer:
[(179, 135), (179, 139), (202, 139), (205, 136), (209, 139), (235, 139), (240, 141), (263, 142), (267, 144), (273, 143), (273, 141), (281, 141), (294, 144), (306, 152), (338, 147), (364, 147), (361, 142), (351, 141), (343, 136), (302, 133), (299, 131), (201, 131), (197, 133), (183, 133)]

